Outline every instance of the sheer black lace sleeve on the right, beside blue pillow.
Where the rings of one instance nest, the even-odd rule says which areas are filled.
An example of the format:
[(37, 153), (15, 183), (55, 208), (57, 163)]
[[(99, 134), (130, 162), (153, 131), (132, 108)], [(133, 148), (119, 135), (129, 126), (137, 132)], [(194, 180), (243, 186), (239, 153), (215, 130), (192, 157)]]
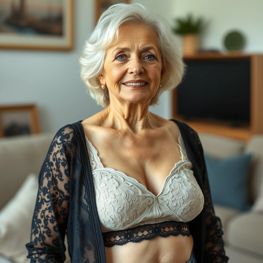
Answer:
[(225, 255), (224, 241), (222, 240), (222, 225), (221, 220), (215, 215), (214, 206), (211, 200), (209, 180), (206, 171), (204, 152), (198, 134), (195, 130), (190, 128), (190, 133), (195, 138), (197, 147), (199, 148), (200, 156), (199, 163), (202, 170), (202, 180), (205, 198), (205, 212), (206, 212), (206, 235), (205, 235), (205, 263), (226, 263), (229, 257)]

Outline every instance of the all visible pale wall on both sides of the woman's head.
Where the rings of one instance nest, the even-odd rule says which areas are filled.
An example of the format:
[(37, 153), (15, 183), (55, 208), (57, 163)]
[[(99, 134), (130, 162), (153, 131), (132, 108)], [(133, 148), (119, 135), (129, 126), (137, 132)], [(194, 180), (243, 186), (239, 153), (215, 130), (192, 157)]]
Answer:
[[(193, 12), (212, 19), (203, 38), (207, 48), (222, 47), (222, 36), (230, 28), (247, 36), (246, 52), (263, 52), (262, 0), (138, 0), (173, 25), (175, 16)], [(78, 58), (94, 26), (94, 1), (75, 1), (75, 48), (72, 52), (0, 50), (0, 104), (37, 103), (44, 132), (88, 118), (102, 107), (86, 95), (79, 77)], [(170, 93), (150, 111), (170, 118)]]

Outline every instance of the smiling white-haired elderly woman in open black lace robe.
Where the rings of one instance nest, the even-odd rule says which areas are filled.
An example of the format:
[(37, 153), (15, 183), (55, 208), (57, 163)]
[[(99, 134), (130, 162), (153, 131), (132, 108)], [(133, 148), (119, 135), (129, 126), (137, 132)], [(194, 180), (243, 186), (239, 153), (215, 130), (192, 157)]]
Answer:
[(141, 4), (101, 16), (80, 58), (105, 107), (55, 135), (39, 173), (31, 262), (225, 263), (197, 133), (148, 111), (182, 80), (168, 22)]

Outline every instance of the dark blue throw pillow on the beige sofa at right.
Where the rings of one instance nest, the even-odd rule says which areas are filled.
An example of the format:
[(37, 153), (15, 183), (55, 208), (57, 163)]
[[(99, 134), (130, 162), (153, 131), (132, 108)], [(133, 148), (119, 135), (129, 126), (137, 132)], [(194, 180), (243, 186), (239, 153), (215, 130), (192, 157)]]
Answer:
[(242, 154), (226, 159), (204, 155), (214, 204), (249, 210), (248, 176), (252, 154)]

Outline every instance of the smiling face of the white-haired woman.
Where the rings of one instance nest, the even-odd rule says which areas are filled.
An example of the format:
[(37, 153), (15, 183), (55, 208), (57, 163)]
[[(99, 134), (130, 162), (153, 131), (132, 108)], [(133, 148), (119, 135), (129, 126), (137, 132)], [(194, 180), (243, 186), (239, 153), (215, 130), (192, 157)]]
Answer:
[(164, 74), (158, 35), (142, 25), (123, 25), (114, 46), (107, 49), (101, 84), (107, 85), (110, 101), (149, 102)]

